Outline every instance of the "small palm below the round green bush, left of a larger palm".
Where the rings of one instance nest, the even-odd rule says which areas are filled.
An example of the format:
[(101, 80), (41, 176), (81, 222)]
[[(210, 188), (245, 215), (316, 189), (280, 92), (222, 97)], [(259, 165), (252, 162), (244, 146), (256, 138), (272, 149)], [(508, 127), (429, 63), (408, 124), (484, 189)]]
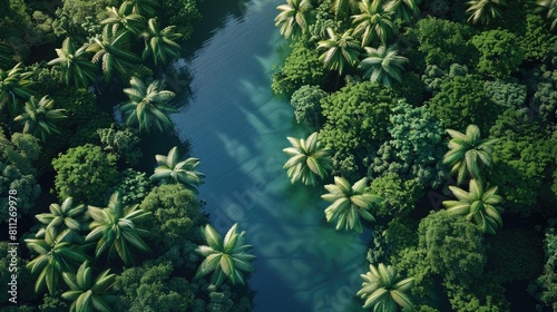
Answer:
[(70, 230), (69, 234), (78, 234), (79, 231), (85, 230), (84, 222), (86, 207), (84, 204), (75, 205), (74, 198), (68, 197), (63, 201), (62, 205), (50, 204), (49, 206), (50, 213), (38, 214), (35, 217), (46, 225), (46, 228), (42, 228), (37, 233), (37, 237), (42, 237), (46, 234), (46, 231), (52, 231), (55, 236), (62, 233), (66, 230)]

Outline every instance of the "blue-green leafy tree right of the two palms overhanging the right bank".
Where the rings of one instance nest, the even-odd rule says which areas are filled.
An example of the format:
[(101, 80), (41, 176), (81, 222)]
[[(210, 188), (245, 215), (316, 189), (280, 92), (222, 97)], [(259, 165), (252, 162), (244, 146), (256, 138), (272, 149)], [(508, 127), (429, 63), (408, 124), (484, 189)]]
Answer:
[(422, 185), (438, 186), (446, 175), (440, 146), (443, 129), (438, 119), (427, 106), (411, 107), (404, 100), (399, 100), (392, 113), (390, 139), (379, 148), (369, 174), (395, 173), (407, 179), (417, 178)]

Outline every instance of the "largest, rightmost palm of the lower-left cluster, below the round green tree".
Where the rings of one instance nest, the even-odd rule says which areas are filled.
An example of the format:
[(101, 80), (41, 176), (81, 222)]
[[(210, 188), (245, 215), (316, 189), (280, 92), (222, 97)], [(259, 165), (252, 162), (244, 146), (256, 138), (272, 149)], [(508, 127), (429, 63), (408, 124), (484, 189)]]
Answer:
[(91, 232), (85, 240), (97, 242), (96, 257), (107, 252), (108, 259), (111, 259), (117, 253), (125, 264), (131, 264), (131, 246), (143, 252), (150, 251), (141, 238), (150, 233), (139, 227), (150, 212), (140, 209), (138, 204), (125, 207), (118, 192), (110, 196), (106, 208), (88, 206), (88, 213), (92, 218), (89, 225)]

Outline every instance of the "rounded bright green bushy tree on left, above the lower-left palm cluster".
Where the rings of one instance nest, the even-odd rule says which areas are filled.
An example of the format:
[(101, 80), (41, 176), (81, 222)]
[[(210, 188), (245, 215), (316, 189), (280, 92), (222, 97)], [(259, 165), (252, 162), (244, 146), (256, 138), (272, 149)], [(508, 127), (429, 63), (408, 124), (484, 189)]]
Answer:
[(52, 166), (60, 201), (74, 197), (78, 203), (101, 205), (102, 195), (118, 182), (116, 156), (91, 144), (68, 149)]

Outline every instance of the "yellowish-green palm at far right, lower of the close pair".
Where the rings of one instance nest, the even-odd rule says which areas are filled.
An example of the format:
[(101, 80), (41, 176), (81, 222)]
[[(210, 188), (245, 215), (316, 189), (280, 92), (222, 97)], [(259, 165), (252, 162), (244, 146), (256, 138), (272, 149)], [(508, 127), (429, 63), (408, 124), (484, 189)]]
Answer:
[(470, 179), (469, 193), (456, 186), (449, 186), (449, 188), (458, 201), (443, 202), (448, 213), (466, 214), (467, 220), (473, 218), (481, 232), (487, 234), (495, 234), (502, 226), (501, 213), (504, 209), (499, 204), (504, 202), (504, 198), (496, 194), (497, 186), (485, 191), (482, 182), (472, 178)]

